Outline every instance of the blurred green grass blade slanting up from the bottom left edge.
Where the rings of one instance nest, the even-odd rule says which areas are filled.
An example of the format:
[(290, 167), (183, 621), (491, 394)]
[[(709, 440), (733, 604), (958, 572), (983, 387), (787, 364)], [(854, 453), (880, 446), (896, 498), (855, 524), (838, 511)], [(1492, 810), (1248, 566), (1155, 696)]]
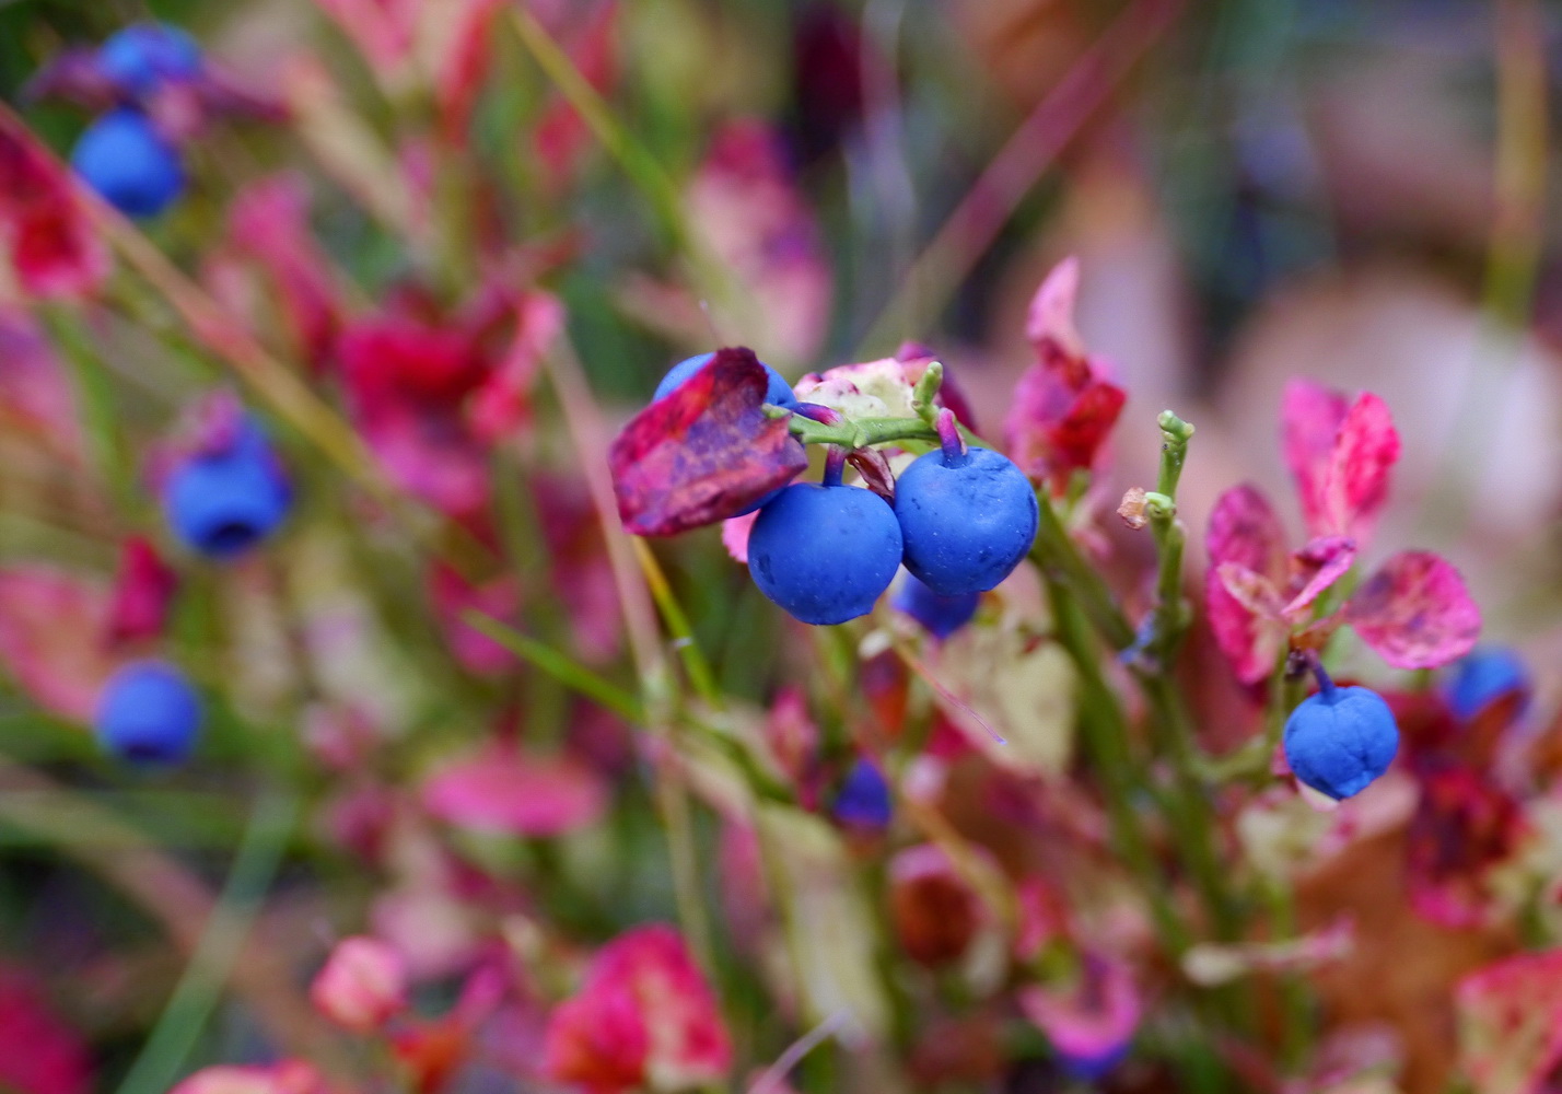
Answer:
[(250, 925), (281, 866), (297, 817), (298, 805), (291, 794), (266, 794), (256, 802), (233, 871), (206, 921), (200, 944), (152, 1036), (119, 1085), (119, 1094), (164, 1094), (180, 1077), (222, 999), (228, 974), (244, 950)]

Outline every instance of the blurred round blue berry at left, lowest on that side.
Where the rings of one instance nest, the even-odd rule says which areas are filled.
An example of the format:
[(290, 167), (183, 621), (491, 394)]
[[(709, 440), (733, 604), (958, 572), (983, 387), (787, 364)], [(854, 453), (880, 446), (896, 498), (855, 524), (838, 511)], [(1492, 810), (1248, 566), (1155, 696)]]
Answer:
[(103, 686), (94, 731), (116, 760), (137, 767), (172, 767), (195, 750), (200, 700), (173, 666), (134, 661)]

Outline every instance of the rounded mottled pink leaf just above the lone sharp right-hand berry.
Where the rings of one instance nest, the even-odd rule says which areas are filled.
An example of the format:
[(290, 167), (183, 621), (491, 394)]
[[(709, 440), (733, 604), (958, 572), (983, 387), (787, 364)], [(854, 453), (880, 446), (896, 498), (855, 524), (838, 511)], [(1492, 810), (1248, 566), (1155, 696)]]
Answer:
[(1459, 570), (1425, 550), (1385, 561), (1345, 605), (1345, 620), (1395, 669), (1448, 664), (1481, 636), (1481, 610)]

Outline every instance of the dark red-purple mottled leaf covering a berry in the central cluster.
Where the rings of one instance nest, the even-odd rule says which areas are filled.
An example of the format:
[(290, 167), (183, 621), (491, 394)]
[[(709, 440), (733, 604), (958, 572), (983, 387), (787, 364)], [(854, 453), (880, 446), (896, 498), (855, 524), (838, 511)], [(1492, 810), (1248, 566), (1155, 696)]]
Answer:
[(725, 349), (636, 414), (608, 453), (623, 527), (672, 536), (725, 520), (808, 467), (786, 419), (765, 417), (765, 370)]

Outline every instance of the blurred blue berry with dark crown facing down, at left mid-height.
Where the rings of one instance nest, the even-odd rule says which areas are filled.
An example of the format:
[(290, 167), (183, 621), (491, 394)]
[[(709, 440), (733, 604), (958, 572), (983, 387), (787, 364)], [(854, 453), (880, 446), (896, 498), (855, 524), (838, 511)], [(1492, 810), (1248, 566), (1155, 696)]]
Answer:
[(162, 505), (187, 547), (225, 560), (276, 531), (292, 506), (292, 489), (270, 442), (245, 419), (230, 445), (175, 466)]

